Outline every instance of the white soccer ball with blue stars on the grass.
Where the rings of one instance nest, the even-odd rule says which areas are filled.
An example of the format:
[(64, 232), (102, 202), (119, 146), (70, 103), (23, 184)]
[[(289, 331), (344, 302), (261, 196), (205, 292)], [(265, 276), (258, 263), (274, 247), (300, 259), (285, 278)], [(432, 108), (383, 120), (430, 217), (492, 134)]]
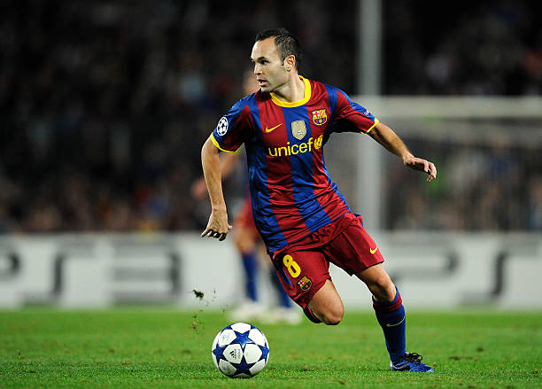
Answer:
[(262, 331), (247, 323), (224, 327), (213, 340), (213, 362), (232, 378), (250, 378), (266, 367), (269, 344)]

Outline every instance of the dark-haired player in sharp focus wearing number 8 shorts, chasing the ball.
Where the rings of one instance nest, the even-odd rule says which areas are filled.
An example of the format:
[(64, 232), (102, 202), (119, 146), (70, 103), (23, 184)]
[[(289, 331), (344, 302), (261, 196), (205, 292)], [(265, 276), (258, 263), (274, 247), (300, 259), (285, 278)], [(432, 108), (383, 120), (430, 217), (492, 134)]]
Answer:
[(334, 132), (368, 134), (406, 167), (437, 177), (391, 128), (344, 91), (298, 74), (298, 40), (283, 28), (256, 36), (252, 47), (259, 91), (221, 118), (202, 148), (212, 211), (202, 237), (226, 238), (231, 226), (221, 188), (219, 151), (244, 144), (254, 222), (283, 287), (314, 323), (338, 324), (345, 308), (329, 276), (329, 262), (367, 284), (382, 326), (391, 370), (432, 372), (422, 356), (406, 352), (406, 316), (383, 256), (352, 214), (323, 162)]

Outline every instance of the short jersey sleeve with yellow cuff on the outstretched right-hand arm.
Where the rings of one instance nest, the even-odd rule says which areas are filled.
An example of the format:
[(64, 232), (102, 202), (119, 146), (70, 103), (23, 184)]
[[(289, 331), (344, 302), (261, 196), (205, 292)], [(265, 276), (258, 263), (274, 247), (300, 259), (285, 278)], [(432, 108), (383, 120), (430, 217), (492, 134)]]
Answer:
[(367, 134), (378, 124), (375, 115), (367, 108), (352, 101), (341, 89), (337, 92), (337, 111), (333, 132), (360, 132)]

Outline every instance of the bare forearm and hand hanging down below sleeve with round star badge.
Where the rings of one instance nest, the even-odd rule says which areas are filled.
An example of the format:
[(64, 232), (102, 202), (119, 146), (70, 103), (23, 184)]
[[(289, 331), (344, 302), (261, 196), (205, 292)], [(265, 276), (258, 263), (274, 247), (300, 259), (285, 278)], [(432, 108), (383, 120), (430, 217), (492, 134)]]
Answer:
[(201, 237), (216, 237), (219, 240), (224, 240), (228, 235), (228, 230), (231, 230), (231, 226), (228, 224), (228, 211), (222, 191), (219, 150), (213, 144), (211, 136), (201, 149), (201, 164), (211, 200), (211, 216), (209, 216), (209, 222), (207, 222), (207, 227)]

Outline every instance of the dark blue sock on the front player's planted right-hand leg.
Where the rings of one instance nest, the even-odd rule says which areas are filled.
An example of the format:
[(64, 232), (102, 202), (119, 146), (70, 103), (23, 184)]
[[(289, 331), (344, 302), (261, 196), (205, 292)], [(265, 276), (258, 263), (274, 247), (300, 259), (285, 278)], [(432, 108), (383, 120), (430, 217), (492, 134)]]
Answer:
[(401, 295), (397, 294), (391, 303), (382, 303), (373, 299), (376, 320), (382, 327), (386, 348), (391, 362), (397, 362), (406, 353), (406, 315)]

